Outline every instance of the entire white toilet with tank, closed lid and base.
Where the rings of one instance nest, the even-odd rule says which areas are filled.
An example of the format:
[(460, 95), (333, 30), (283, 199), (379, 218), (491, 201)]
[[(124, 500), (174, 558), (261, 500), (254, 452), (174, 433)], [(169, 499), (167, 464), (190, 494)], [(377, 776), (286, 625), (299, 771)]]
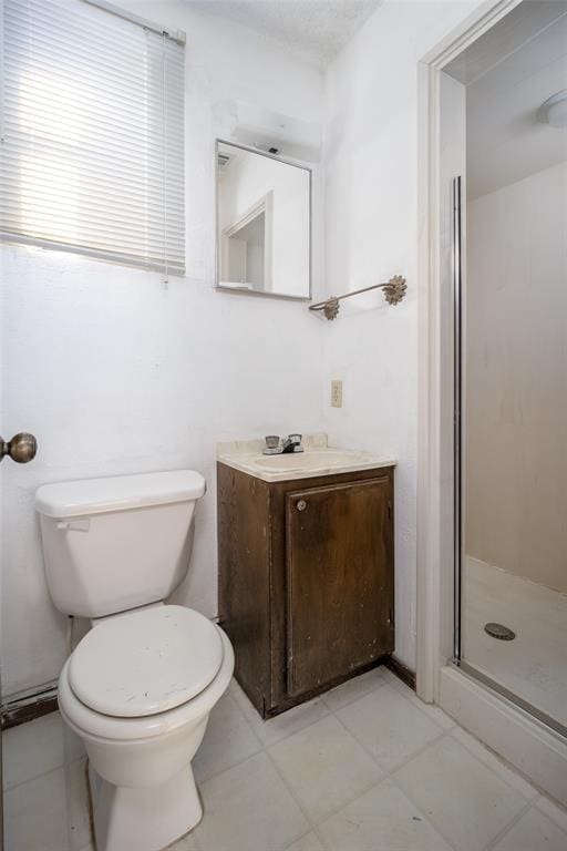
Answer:
[(190, 761), (234, 653), (198, 612), (163, 601), (188, 571), (190, 470), (41, 486), (48, 586), (93, 628), (68, 659), (59, 706), (89, 755), (97, 851), (158, 851), (195, 827)]

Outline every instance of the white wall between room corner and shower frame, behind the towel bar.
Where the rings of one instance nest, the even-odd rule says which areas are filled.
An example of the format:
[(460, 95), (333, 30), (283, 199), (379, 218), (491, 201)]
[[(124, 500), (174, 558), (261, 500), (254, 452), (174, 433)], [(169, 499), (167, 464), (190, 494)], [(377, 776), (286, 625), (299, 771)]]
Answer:
[[(415, 666), (417, 433), (417, 62), (476, 2), (383, 3), (327, 79), (327, 279), (334, 294), (408, 278), (408, 296), (341, 305), (324, 328), (324, 383), (342, 378), (343, 408), (326, 408), (339, 443), (398, 458), (396, 654)], [(327, 391), (327, 390), (326, 390)]]

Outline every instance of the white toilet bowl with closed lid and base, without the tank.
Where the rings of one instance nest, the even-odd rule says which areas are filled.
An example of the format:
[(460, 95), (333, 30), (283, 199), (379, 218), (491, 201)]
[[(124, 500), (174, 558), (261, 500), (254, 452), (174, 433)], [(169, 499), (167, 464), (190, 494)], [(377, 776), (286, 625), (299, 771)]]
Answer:
[(225, 633), (182, 606), (111, 618), (79, 644), (60, 676), (59, 706), (89, 756), (99, 851), (159, 851), (198, 823), (190, 762), (233, 668)]

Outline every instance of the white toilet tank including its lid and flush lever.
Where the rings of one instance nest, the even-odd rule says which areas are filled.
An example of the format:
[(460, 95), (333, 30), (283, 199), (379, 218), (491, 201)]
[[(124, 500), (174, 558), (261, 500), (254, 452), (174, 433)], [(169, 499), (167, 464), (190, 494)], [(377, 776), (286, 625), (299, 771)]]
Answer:
[(103, 617), (165, 599), (186, 576), (193, 470), (44, 484), (35, 494), (48, 587), (68, 615)]

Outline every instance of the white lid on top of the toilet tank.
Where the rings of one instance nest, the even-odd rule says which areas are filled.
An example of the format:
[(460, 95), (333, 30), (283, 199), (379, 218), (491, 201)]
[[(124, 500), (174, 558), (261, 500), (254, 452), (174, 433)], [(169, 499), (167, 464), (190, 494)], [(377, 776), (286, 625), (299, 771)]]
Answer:
[(78, 517), (198, 500), (205, 486), (205, 479), (194, 470), (56, 482), (38, 488), (35, 509), (49, 517)]

